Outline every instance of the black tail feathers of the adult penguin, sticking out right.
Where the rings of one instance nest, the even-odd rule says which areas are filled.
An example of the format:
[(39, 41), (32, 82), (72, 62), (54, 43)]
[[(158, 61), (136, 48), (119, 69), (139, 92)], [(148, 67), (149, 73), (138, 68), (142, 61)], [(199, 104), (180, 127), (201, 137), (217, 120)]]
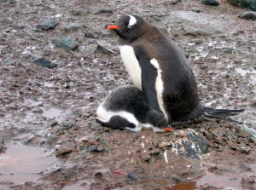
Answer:
[(203, 107), (201, 117), (207, 120), (212, 119), (230, 119), (230, 116), (235, 116), (241, 112), (244, 112), (244, 109), (241, 110), (226, 110), (226, 109), (212, 109), (209, 107)]

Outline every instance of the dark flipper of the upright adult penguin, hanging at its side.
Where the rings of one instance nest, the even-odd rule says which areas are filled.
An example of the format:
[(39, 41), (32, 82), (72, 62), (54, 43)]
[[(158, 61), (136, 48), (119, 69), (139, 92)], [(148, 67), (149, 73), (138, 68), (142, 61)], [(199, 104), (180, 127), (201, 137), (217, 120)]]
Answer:
[(154, 110), (161, 112), (155, 89), (155, 82), (158, 75), (157, 69), (151, 64), (143, 48), (137, 47), (135, 52), (142, 69), (142, 89), (145, 99)]

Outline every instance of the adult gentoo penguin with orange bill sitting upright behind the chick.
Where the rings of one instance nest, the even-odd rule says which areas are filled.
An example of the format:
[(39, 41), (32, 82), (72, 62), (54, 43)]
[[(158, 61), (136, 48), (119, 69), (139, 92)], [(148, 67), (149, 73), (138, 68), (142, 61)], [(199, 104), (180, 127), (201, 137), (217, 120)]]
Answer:
[(229, 118), (244, 111), (202, 107), (189, 61), (176, 43), (146, 20), (126, 14), (106, 28), (119, 36), (120, 55), (132, 82), (169, 124)]

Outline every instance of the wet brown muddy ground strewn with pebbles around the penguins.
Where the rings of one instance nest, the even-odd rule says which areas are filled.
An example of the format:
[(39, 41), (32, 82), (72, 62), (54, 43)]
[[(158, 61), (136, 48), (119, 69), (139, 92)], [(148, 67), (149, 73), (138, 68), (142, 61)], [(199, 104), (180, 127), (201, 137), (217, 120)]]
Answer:
[[(256, 189), (256, 23), (239, 19), (243, 11), (189, 0), (0, 0), (0, 189)], [(183, 126), (207, 139), (201, 159), (166, 161), (172, 146), (160, 142), (182, 135), (95, 122), (109, 90), (131, 84), (117, 37), (104, 30), (121, 14), (142, 15), (177, 42), (204, 105), (246, 109), (235, 118), (244, 124)], [(38, 29), (49, 17), (60, 24)], [(60, 37), (79, 48), (55, 47)], [(40, 57), (55, 67), (34, 64)]]

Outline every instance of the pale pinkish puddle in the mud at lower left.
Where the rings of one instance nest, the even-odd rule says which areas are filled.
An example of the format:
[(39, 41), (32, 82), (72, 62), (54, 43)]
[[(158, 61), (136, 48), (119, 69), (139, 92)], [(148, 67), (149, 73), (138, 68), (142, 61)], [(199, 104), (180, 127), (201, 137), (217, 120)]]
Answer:
[[(8, 147), (7, 151), (0, 154), (0, 182), (11, 181), (24, 183), (36, 181), (38, 173), (55, 166), (57, 158), (49, 156), (40, 147), (28, 147), (14, 145)], [(0, 189), (2, 185), (0, 184)]]

